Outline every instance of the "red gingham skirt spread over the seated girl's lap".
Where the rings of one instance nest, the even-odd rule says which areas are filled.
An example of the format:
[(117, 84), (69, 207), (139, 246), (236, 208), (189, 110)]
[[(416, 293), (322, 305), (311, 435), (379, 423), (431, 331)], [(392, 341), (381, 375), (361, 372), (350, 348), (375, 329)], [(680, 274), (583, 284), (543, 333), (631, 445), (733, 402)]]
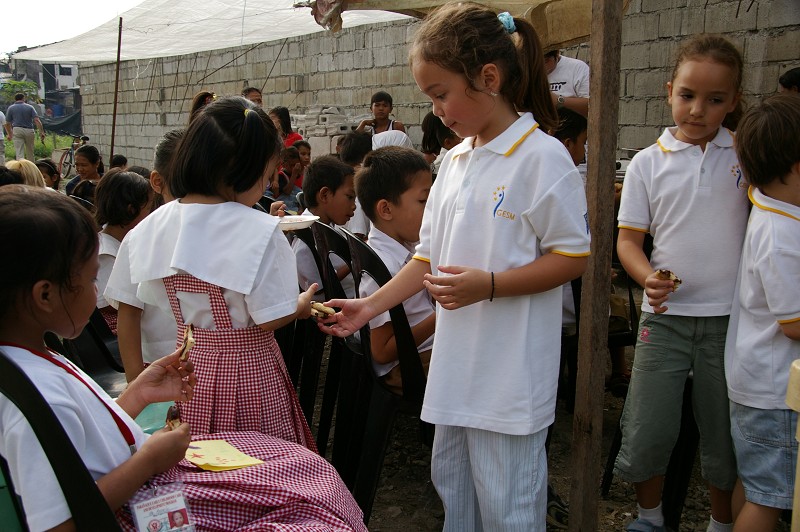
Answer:
[[(149, 486), (183, 482), (197, 530), (366, 531), (361, 509), (336, 470), (319, 455), (257, 432), (219, 433), (263, 464), (203, 471), (187, 460), (150, 479)], [(117, 512), (134, 530), (128, 507)]]

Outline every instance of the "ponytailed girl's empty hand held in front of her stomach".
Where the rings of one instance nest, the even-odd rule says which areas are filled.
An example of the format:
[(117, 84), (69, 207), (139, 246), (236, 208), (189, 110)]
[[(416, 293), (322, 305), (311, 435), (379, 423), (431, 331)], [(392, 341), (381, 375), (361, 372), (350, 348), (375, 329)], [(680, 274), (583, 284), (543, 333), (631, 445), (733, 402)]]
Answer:
[(464, 266), (439, 266), (445, 274), (425, 274), (424, 285), (444, 309), (454, 310), (493, 296), (492, 274)]

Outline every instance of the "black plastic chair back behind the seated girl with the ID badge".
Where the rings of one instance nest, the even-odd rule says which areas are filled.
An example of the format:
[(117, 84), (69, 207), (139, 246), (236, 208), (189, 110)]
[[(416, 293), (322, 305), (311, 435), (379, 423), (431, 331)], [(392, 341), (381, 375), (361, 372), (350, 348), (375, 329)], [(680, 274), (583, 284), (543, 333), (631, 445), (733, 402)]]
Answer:
[[(55, 413), (28, 376), (0, 349), (0, 392), (30, 423), (55, 472), (78, 530), (120, 530), (114, 513), (86, 469), (78, 451), (64, 432)], [(9, 486), (8, 464), (0, 458), (0, 467)], [(15, 499), (20, 523), (25, 515)], [(24, 504), (24, 501), (22, 501)]]

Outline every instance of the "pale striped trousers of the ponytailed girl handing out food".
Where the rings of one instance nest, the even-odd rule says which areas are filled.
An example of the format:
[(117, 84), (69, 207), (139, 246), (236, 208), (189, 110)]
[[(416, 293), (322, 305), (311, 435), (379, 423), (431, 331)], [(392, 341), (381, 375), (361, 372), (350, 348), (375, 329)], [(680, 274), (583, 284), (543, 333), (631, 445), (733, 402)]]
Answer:
[(545, 530), (547, 429), (525, 436), (436, 425), (431, 479), (444, 532)]

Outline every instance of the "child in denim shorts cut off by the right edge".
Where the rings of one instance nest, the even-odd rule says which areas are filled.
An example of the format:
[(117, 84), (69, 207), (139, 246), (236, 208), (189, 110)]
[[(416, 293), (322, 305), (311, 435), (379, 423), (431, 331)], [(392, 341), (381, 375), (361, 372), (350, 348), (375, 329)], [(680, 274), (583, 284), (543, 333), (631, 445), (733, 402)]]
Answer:
[(753, 204), (725, 346), (739, 480), (734, 530), (774, 530), (792, 508), (797, 414), (784, 402), (800, 356), (800, 96), (779, 94), (739, 123)]

